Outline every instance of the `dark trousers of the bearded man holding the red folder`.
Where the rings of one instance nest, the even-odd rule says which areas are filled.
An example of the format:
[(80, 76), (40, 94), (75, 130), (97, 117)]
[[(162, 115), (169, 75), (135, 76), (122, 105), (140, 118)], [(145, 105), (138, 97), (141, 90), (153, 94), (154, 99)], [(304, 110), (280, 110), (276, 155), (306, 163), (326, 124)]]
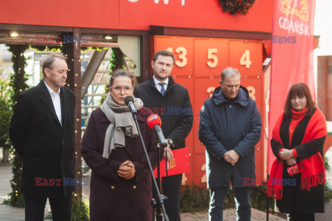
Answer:
[[(161, 178), (163, 195), (167, 197), (165, 210), (169, 221), (181, 221), (180, 218), (180, 191), (181, 191), (182, 174), (169, 175)], [(156, 191), (152, 191), (156, 199)]]

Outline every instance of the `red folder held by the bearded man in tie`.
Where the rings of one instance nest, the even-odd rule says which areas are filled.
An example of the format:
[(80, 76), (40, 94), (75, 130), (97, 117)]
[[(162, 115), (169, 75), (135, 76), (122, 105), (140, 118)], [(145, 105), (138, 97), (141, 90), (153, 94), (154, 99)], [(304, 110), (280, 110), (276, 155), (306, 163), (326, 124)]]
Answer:
[[(173, 160), (167, 161), (167, 175), (176, 175), (181, 173), (189, 173), (189, 148), (181, 148), (172, 151)], [(160, 177), (166, 176), (165, 157), (160, 162)], [(154, 170), (154, 176), (158, 177), (157, 168)]]

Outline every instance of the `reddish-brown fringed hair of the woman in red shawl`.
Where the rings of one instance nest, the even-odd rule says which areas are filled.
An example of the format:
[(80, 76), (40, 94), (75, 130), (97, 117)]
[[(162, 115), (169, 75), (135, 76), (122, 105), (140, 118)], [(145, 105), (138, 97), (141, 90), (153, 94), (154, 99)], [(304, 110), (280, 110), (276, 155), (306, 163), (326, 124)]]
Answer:
[(292, 116), (292, 104), (291, 104), (291, 99), (293, 96), (298, 96), (298, 97), (306, 97), (306, 107), (308, 107), (308, 112), (306, 115), (313, 115), (313, 113), (316, 110), (315, 107), (315, 102), (313, 101), (313, 97), (311, 96), (310, 89), (308, 85), (304, 83), (297, 83), (294, 84), (291, 89), (289, 89), (287, 99), (286, 99), (286, 104), (284, 108), (284, 112), (286, 117), (291, 117)]

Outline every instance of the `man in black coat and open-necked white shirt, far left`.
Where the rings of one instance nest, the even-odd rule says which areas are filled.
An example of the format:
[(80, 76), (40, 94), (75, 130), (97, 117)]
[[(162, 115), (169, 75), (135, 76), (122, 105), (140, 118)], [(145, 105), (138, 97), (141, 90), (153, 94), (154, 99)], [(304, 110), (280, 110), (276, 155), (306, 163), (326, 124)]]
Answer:
[(66, 57), (46, 57), (44, 79), (17, 97), (10, 121), (10, 140), (23, 157), (26, 221), (44, 220), (47, 198), (53, 220), (71, 220), (75, 95), (64, 87), (67, 72)]

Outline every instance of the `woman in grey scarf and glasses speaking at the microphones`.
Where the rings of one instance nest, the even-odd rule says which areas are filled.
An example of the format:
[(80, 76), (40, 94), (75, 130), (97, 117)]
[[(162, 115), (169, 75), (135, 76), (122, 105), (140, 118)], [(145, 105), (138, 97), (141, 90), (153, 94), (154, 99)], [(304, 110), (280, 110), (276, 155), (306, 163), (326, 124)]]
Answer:
[[(136, 124), (124, 98), (133, 96), (136, 77), (125, 70), (113, 73), (109, 95), (89, 118), (82, 137), (82, 156), (91, 168), (91, 221), (151, 220), (151, 174)], [(152, 112), (140, 99), (138, 125), (153, 169), (157, 165), (156, 135), (147, 126)]]

